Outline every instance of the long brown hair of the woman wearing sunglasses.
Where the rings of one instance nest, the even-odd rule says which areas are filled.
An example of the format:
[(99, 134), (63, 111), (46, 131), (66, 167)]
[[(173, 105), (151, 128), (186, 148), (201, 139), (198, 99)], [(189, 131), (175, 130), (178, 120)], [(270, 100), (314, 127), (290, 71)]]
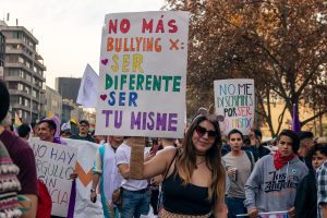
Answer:
[(209, 199), (216, 199), (218, 196), (219, 201), (223, 201), (226, 189), (226, 171), (221, 164), (221, 134), (218, 121), (213, 120), (210, 116), (197, 114), (195, 119), (193, 119), (182, 144), (182, 153), (177, 158), (177, 171), (183, 179), (184, 184), (189, 184), (192, 173), (194, 169), (196, 169), (196, 150), (192, 141), (192, 136), (196, 126), (203, 121), (209, 121), (215, 126), (215, 131), (217, 132), (217, 137), (215, 138), (213, 146), (206, 153), (207, 166), (213, 173), (211, 182), (209, 184)]

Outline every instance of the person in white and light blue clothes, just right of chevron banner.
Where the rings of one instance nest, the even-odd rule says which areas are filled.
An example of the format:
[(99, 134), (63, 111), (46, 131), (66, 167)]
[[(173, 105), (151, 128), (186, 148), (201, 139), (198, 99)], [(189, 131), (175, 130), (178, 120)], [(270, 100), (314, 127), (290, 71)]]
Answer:
[(101, 204), (105, 218), (119, 217), (118, 209), (112, 203), (112, 193), (121, 185), (122, 177), (116, 165), (114, 153), (123, 143), (123, 136), (109, 136), (108, 143), (102, 144), (95, 158), (90, 202), (97, 201), (97, 186), (100, 181)]

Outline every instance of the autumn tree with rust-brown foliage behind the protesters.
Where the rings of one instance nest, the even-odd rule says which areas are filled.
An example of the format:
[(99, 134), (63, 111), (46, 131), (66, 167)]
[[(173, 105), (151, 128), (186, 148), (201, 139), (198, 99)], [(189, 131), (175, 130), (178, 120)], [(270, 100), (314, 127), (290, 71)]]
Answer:
[[(187, 102), (191, 112), (213, 100), (215, 80), (255, 80), (257, 112), (271, 135), (271, 104), (292, 114), (293, 104), (327, 108), (327, 3), (314, 0), (167, 0), (191, 12)], [(191, 95), (190, 95), (191, 94)], [(266, 106), (266, 107), (264, 107)], [(281, 124), (281, 122), (280, 122)]]

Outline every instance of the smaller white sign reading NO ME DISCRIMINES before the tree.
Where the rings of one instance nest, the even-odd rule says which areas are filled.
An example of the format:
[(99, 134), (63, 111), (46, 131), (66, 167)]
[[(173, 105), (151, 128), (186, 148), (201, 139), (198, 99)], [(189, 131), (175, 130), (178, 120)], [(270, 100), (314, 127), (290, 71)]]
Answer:
[(219, 80), (214, 86), (216, 113), (223, 118), (219, 120), (222, 133), (238, 129), (249, 135), (254, 121), (254, 80)]

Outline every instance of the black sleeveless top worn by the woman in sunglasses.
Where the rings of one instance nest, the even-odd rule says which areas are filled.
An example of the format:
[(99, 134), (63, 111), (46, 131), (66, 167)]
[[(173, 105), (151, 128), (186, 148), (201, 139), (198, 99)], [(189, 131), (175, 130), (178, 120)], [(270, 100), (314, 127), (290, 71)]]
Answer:
[(208, 187), (183, 184), (179, 174), (173, 172), (164, 181), (164, 208), (180, 215), (207, 215), (213, 209), (208, 199)]

